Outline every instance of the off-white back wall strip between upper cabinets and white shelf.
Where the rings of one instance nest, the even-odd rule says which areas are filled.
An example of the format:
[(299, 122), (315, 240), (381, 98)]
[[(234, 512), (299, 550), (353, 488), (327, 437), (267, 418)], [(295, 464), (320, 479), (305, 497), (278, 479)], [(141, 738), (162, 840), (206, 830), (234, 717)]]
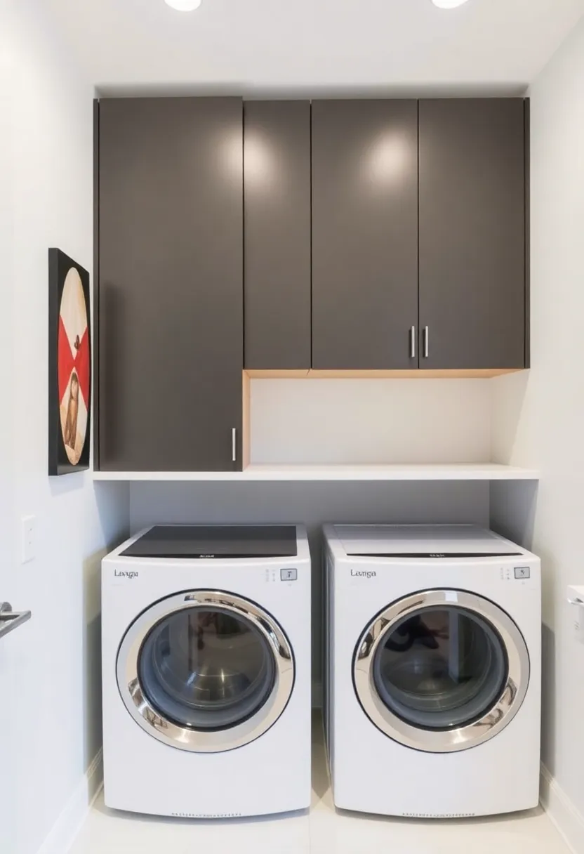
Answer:
[(481, 379), (261, 379), (251, 383), (253, 463), (488, 463)]

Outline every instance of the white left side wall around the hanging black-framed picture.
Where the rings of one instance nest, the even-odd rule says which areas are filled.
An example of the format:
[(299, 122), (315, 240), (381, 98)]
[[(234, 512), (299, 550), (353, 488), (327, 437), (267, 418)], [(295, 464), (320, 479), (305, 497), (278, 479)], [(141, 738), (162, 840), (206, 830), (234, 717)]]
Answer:
[[(123, 485), (94, 488), (89, 473), (46, 474), (47, 250), (60, 247), (91, 271), (93, 90), (44, 5), (3, 3), (11, 17), (2, 26), (14, 190), (12, 275), (3, 281), (3, 326), (11, 326), (13, 341), (0, 336), (0, 362), (13, 371), (2, 407), (3, 418), (13, 418), (15, 463), (7, 583), (13, 605), (32, 609), (9, 646), (18, 832), (10, 854), (38, 851), (67, 804), (79, 807), (86, 797), (85, 772), (101, 745), (99, 559), (126, 529), (129, 512)], [(26, 565), (23, 514), (37, 518), (37, 559)]]

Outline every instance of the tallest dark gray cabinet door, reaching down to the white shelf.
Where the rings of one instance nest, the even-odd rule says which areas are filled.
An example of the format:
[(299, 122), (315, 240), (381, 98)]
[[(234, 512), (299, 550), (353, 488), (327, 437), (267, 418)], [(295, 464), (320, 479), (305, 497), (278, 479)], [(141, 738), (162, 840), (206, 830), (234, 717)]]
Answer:
[(241, 468), (242, 102), (102, 100), (98, 156), (99, 467)]

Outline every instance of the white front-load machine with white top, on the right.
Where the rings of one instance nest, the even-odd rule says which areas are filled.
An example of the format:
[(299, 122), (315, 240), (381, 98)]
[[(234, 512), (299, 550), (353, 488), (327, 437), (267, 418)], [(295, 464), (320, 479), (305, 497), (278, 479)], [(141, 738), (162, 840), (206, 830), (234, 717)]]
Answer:
[(540, 560), (471, 525), (324, 535), (336, 806), (423, 818), (536, 806)]

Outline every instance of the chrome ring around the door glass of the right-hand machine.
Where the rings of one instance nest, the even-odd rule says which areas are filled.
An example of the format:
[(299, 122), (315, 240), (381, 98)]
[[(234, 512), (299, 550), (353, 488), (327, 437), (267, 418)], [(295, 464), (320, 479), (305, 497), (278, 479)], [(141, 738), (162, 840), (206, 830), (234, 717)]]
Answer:
[[(507, 679), (498, 699), (479, 720), (453, 729), (423, 729), (394, 715), (377, 693), (373, 663), (377, 649), (396, 623), (426, 608), (464, 608), (487, 620), (499, 634), (508, 661)], [(365, 629), (353, 656), (353, 684), (363, 711), (390, 739), (430, 753), (468, 750), (492, 739), (517, 715), (529, 685), (529, 651), (523, 635), (498, 605), (464, 590), (423, 590), (397, 600)]]

